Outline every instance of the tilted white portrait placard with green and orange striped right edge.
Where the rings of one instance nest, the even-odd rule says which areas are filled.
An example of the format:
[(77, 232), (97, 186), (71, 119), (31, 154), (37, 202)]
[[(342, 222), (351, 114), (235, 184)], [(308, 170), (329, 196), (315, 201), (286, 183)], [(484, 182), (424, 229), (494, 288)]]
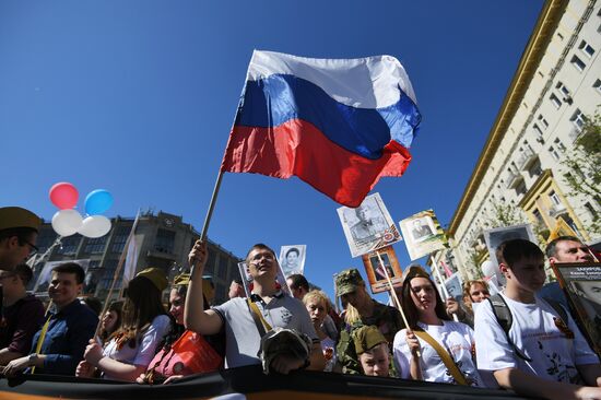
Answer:
[(425, 210), (399, 222), (411, 260), (447, 246), (447, 236), (433, 210)]

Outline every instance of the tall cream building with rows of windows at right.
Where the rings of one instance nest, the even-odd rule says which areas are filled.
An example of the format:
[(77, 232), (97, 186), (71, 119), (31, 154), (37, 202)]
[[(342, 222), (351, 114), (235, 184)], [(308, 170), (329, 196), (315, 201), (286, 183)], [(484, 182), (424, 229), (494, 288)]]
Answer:
[(483, 232), (530, 223), (544, 246), (552, 234), (599, 240), (591, 222), (601, 197), (575, 193), (565, 163), (587, 116), (601, 111), (601, 4), (550, 0), (523, 51), (475, 169), (449, 224), (450, 251), (463, 279), (488, 259)]

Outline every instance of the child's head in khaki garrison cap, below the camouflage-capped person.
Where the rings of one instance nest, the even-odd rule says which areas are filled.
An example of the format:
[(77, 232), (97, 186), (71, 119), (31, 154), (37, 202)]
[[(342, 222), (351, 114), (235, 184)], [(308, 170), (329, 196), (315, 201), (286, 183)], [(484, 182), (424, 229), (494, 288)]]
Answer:
[(353, 332), (353, 340), (363, 375), (391, 376), (388, 342), (378, 328), (363, 326)]

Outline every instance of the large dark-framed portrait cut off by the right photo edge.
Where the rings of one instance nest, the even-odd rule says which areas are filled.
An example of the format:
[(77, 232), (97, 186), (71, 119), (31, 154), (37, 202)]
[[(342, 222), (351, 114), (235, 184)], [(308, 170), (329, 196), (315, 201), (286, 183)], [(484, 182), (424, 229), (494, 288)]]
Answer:
[(591, 349), (601, 357), (601, 263), (551, 264), (559, 286), (576, 311), (576, 322)]

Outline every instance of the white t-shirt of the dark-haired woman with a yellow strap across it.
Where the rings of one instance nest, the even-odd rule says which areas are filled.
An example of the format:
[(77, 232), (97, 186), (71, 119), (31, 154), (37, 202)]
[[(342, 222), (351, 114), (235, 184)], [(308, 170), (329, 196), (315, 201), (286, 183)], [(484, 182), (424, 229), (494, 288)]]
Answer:
[[(461, 370), (471, 386), (484, 387), (484, 383), (478, 373), (475, 363), (472, 360), (472, 346), (474, 344), (473, 330), (462, 322), (443, 321), (443, 325), (417, 323), (424, 331), (428, 332), (451, 356), (452, 361)], [(448, 372), (443, 358), (436, 350), (427, 342), (419, 339), (422, 348), (420, 367), (422, 377), (426, 381), (456, 384), (455, 378)], [(401, 378), (409, 378), (409, 364), (411, 352), (406, 344), (406, 329), (402, 329), (394, 336), (394, 367)]]

